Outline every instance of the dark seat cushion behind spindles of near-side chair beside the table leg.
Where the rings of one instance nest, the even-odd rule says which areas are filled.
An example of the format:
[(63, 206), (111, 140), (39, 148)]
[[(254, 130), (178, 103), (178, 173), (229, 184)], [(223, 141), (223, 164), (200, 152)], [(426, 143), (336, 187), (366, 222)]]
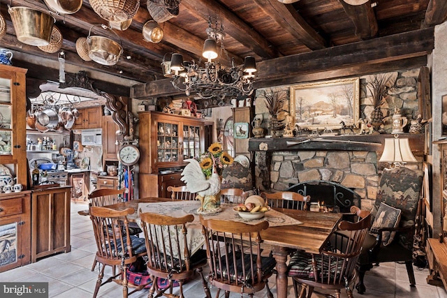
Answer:
[[(259, 281), (257, 280), (257, 276), (256, 276), (256, 258), (257, 258), (256, 255), (253, 255), (253, 268), (254, 268), (254, 273), (255, 273), (254, 280), (252, 279), (251, 271), (250, 271), (251, 268), (249, 266), (250, 255), (244, 254), (245, 280), (244, 280), (244, 272), (242, 271), (241, 253), (238, 251), (235, 253), (235, 255), (236, 255), (237, 276), (235, 276), (233, 254), (228, 255), (229, 268), (226, 268), (226, 266), (225, 266), (226, 265), (225, 256), (221, 257), (221, 264), (224, 266), (223, 272), (219, 268), (219, 262), (217, 262), (217, 264), (216, 264), (217, 276), (220, 276), (222, 274), (224, 277), (227, 278), (227, 276), (228, 276), (227, 272), (229, 271), (231, 281), (237, 280), (240, 283), (258, 283)], [(271, 257), (261, 257), (261, 262), (262, 262), (261, 270), (263, 271), (263, 276), (268, 276), (268, 275), (272, 274), (274, 267), (277, 265), (276, 260), (274, 260), (274, 258), (271, 258)]]

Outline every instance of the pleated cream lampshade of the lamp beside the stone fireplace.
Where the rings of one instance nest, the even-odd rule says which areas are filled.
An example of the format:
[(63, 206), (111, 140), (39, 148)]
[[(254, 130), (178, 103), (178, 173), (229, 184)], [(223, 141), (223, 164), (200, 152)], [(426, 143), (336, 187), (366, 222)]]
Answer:
[(408, 137), (395, 137), (385, 139), (383, 154), (379, 159), (381, 163), (417, 163), (411, 153)]

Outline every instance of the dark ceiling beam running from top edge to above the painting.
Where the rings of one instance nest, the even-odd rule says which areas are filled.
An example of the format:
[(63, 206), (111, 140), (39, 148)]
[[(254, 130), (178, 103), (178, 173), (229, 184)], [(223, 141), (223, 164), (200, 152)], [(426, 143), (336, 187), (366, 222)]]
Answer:
[(326, 42), (316, 31), (301, 17), (293, 6), (286, 6), (278, 0), (255, 0), (259, 7), (270, 15), (282, 28), (291, 33), (293, 37), (309, 48), (309, 50), (321, 50), (326, 47)]

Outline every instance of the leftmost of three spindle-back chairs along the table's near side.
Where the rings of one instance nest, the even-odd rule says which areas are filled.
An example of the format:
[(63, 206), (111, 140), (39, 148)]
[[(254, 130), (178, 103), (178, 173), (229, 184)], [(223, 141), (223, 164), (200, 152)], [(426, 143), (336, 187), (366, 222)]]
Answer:
[[(98, 280), (93, 297), (98, 295), (99, 288), (105, 283), (114, 281), (123, 287), (123, 297), (128, 297), (133, 292), (142, 290), (145, 285), (132, 285), (126, 278), (126, 269), (138, 257), (147, 255), (145, 239), (135, 237), (129, 232), (129, 220), (127, 216), (133, 214), (133, 208), (122, 211), (108, 209), (106, 207), (89, 208), (91, 223), (96, 240), (95, 260), (102, 265), (99, 270)], [(105, 266), (118, 267), (118, 274), (113, 274), (103, 282)], [(135, 288), (129, 292), (129, 287)]]

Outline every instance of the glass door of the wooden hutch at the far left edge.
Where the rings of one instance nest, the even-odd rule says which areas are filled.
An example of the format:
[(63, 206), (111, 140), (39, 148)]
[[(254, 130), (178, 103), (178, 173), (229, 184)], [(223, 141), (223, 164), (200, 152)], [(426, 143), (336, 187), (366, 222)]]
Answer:
[(11, 80), (0, 78), (0, 154), (11, 155), (13, 131), (11, 127)]

